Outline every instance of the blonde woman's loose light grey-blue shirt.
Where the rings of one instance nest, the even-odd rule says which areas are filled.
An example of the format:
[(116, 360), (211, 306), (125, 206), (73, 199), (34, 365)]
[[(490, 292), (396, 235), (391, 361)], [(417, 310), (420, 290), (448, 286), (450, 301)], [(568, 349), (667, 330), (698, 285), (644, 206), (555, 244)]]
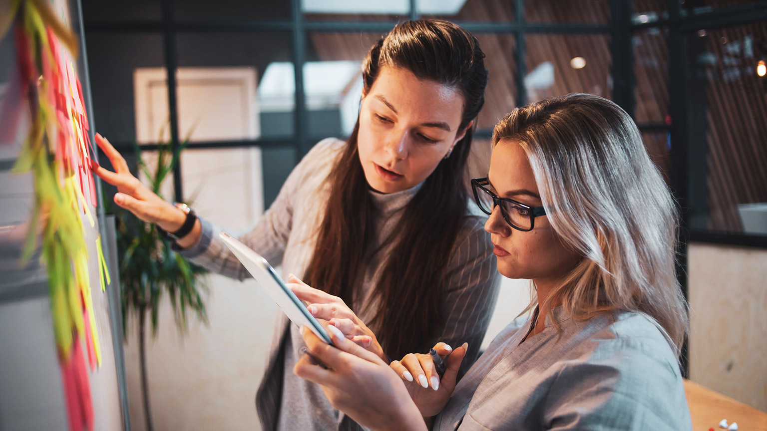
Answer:
[(676, 357), (656, 324), (625, 311), (571, 319), (542, 333), (518, 319), (458, 383), (433, 427), (591, 431), (692, 429)]

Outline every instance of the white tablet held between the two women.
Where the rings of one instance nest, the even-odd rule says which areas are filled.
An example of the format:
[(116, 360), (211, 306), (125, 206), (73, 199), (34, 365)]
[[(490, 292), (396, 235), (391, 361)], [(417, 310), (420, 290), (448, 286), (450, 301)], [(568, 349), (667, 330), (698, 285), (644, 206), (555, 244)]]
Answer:
[(282, 281), (275, 268), (272, 268), (272, 265), (269, 265), (265, 258), (226, 232), (221, 232), (219, 237), (293, 323), (297, 324), (298, 327), (309, 327), (323, 341), (333, 345), (325, 328), (311, 315), (304, 303), (288, 288), (285, 281)]

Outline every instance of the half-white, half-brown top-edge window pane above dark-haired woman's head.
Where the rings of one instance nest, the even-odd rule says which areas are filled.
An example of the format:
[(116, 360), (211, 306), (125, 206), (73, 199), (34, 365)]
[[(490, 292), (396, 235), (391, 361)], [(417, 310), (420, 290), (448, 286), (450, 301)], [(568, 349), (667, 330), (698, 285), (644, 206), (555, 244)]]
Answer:
[(449, 21), (514, 21), (516, 0), (457, 0), (434, 2), (419, 0), (418, 12), (423, 18), (442, 18)]

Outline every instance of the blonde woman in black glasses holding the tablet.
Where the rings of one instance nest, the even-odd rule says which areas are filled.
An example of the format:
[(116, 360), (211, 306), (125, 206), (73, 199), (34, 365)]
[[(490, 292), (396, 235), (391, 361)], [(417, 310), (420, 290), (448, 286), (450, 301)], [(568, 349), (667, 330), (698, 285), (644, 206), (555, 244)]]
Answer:
[(457, 385), (466, 344), (436, 344), (449, 355), (439, 390), (405, 379), (438, 375), (429, 355), (388, 366), (334, 327), (335, 347), (303, 331), (295, 373), (372, 429), (691, 429), (676, 208), (634, 122), (570, 94), (515, 109), (492, 143), (488, 177), (472, 186), (499, 272), (535, 285), (532, 318)]

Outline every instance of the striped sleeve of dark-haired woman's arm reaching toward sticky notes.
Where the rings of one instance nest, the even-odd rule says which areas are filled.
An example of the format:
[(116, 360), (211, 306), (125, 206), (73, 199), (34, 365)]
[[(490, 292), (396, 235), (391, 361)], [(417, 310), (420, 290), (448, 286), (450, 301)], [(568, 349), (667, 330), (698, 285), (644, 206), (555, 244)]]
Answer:
[[(328, 157), (334, 154), (331, 148), (334, 142), (336, 140), (333, 138), (322, 140), (304, 156), (285, 180), (275, 202), (249, 232), (230, 234), (262, 255), (273, 266), (280, 265), (293, 227), (295, 206), (301, 202), (300, 193), (311, 193), (308, 187), (311, 188), (316, 182), (307, 179), (318, 169), (326, 168), (325, 163), (331, 162)], [(219, 238), (223, 229), (205, 219), (200, 219), (200, 222), (202, 235), (199, 240), (192, 247), (179, 251), (179, 254), (190, 262), (227, 277), (239, 280), (250, 277), (242, 263)]]

